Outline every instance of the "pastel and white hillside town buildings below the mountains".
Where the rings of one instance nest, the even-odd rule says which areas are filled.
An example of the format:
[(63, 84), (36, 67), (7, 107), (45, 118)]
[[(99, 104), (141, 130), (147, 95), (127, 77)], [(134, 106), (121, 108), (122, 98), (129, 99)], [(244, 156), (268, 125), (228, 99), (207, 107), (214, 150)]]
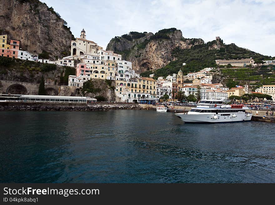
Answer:
[[(0, 36), (1, 56), (19, 58), (22, 60), (37, 61), (41, 63), (56, 64), (76, 68), (76, 74), (68, 77), (68, 86), (74, 89), (83, 88), (84, 83), (90, 79), (110, 80), (115, 83), (116, 102), (141, 102), (141, 100), (160, 101), (196, 101), (198, 99), (211, 99), (222, 97), (228, 100), (230, 96), (243, 96), (244, 94), (268, 94), (275, 101), (275, 85), (262, 85), (252, 92), (251, 87), (227, 88), (222, 83), (212, 83), (213, 71), (217, 68), (204, 68), (200, 71), (183, 75), (180, 69), (178, 73), (168, 75), (166, 78), (150, 78), (140, 76), (132, 68), (132, 63), (122, 59), (122, 55), (113, 51), (106, 51), (97, 43), (86, 39), (86, 32), (81, 31), (80, 38), (71, 41), (71, 55), (52, 61), (39, 59), (19, 48), (20, 41), (7, 39), (7, 35)], [(9, 43), (8, 43), (9, 42)], [(216, 60), (217, 65), (232, 66), (258, 66), (252, 58)], [(264, 64), (274, 64), (274, 61), (266, 61)], [(186, 63), (183, 63), (183, 68)], [(189, 97), (189, 98), (188, 98)]]

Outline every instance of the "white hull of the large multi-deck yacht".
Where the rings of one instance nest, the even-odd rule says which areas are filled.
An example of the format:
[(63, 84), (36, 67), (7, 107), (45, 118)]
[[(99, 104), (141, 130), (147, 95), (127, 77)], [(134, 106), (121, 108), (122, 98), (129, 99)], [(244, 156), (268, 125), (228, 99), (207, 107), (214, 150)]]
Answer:
[(216, 114), (217, 119), (214, 118), (215, 114), (184, 114), (176, 113), (178, 118), (180, 118), (184, 123), (232, 123), (232, 122), (243, 122), (250, 121), (252, 114), (247, 116), (246, 113), (235, 114), (236, 117), (233, 117), (233, 114), (229, 116), (222, 116), (221, 114)]

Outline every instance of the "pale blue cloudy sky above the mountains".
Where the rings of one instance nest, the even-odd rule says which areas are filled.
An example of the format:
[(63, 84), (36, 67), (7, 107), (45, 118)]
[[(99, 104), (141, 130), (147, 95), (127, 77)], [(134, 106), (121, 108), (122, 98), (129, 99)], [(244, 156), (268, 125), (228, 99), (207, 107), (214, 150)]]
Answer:
[(131, 31), (180, 29), (185, 38), (224, 43), (275, 56), (275, 0), (41, 0), (53, 7), (75, 37), (104, 49)]

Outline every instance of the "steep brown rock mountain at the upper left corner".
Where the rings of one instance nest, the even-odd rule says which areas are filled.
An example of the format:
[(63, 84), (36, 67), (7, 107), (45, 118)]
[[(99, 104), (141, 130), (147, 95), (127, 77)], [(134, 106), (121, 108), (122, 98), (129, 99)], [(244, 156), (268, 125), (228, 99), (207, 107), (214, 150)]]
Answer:
[(20, 40), (20, 48), (41, 58), (68, 55), (74, 38), (60, 15), (38, 0), (0, 0), (0, 35)]

